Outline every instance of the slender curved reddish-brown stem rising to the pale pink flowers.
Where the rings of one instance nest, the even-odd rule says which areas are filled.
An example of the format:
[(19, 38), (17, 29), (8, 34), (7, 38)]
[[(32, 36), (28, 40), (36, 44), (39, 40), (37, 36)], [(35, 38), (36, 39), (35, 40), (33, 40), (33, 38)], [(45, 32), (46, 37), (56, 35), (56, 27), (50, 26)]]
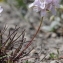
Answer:
[(16, 58), (14, 58), (14, 61), (16, 61), (17, 59), (19, 59), (19, 57), (22, 55), (22, 53), (31, 45), (31, 43), (33, 42), (34, 38), (37, 36), (38, 32), (40, 31), (40, 27), (42, 25), (42, 21), (43, 21), (43, 17), (40, 20), (40, 25), (39, 25), (36, 33), (34, 34), (34, 36), (32, 37), (32, 39), (29, 41), (29, 43), (26, 45), (26, 47), (21, 51), (21, 53)]

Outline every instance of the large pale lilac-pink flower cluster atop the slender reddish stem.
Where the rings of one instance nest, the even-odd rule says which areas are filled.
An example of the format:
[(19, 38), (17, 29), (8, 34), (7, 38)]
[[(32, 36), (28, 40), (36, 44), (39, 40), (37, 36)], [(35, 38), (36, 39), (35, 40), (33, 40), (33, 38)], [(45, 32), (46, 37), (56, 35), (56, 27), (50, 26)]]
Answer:
[(35, 0), (29, 7), (32, 7), (36, 12), (40, 12), (43, 17), (47, 14), (47, 11), (51, 11), (51, 13), (55, 15), (59, 3), (60, 0)]

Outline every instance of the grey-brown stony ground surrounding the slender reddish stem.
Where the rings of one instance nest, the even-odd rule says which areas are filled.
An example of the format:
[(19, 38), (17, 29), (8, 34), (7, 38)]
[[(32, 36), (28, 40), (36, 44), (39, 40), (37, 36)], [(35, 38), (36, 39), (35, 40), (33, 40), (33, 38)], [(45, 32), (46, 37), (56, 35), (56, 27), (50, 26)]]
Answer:
[[(39, 26), (40, 15), (29, 10), (24, 19), (20, 16), (19, 11), (13, 9), (8, 4), (0, 3), (0, 5), (3, 7), (3, 12), (0, 16), (0, 29), (5, 25), (8, 29), (13, 29), (16, 25), (20, 26), (21, 31), (23, 29), (26, 30), (25, 38), (26, 41), (29, 41), (36, 32), (36, 28)], [(42, 26), (49, 24), (50, 21), (47, 18), (44, 18)], [(57, 31), (58, 30), (56, 30), (56, 32)], [(27, 56), (20, 59), (20, 62), (24, 63), (28, 60), (30, 63), (63, 63), (62, 59), (53, 59), (50, 57), (50, 54), (52, 53), (55, 55), (58, 54), (59, 57), (63, 56), (63, 36), (62, 33), (56, 32), (44, 31), (41, 27), (40, 32), (26, 52), (33, 50)]]

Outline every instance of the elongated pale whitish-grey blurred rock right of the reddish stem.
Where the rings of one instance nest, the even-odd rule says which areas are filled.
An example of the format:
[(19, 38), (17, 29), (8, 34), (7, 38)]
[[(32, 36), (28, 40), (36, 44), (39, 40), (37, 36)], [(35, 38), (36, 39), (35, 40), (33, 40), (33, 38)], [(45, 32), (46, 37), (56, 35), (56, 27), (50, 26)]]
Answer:
[(48, 32), (49, 31), (53, 32), (56, 29), (58, 29), (60, 26), (61, 26), (61, 24), (60, 24), (60, 21), (58, 19), (58, 21), (54, 20), (49, 26), (43, 26), (42, 30), (43, 31), (48, 31)]

